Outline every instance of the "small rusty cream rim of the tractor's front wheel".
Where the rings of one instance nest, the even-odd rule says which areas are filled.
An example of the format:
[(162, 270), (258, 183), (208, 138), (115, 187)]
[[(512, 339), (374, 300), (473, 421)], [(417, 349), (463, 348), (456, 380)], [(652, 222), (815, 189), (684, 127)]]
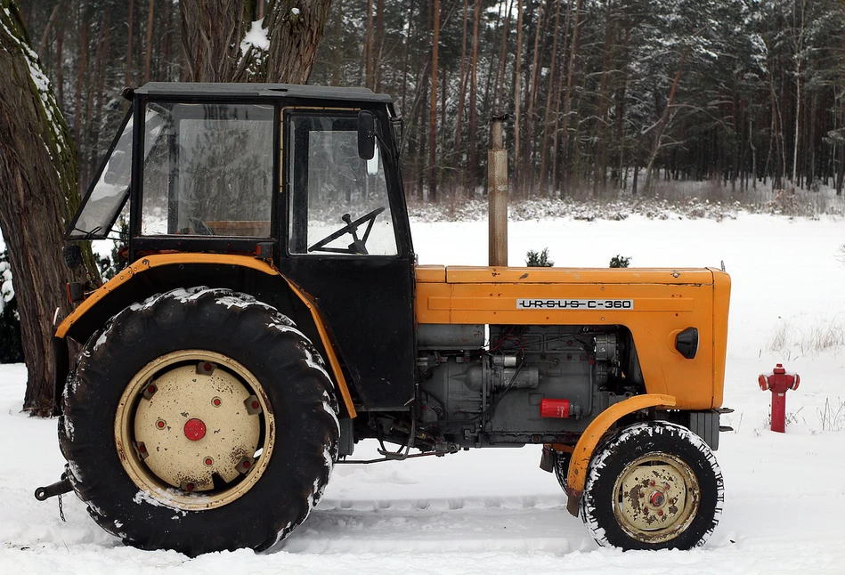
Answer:
[(633, 539), (650, 544), (687, 530), (701, 501), (692, 468), (668, 453), (648, 453), (630, 462), (613, 494), (616, 522)]

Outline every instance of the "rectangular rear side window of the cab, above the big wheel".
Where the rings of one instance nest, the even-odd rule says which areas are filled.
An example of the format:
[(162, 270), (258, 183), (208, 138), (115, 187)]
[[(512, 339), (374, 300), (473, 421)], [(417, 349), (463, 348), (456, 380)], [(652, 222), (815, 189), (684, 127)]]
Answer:
[(272, 106), (150, 102), (142, 234), (270, 236), (273, 118)]

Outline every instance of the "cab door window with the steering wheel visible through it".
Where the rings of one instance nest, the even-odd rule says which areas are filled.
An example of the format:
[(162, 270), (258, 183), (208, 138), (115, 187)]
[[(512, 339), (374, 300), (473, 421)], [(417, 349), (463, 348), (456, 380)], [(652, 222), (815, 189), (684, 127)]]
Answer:
[(358, 157), (356, 116), (288, 120), (291, 254), (397, 255), (380, 150)]

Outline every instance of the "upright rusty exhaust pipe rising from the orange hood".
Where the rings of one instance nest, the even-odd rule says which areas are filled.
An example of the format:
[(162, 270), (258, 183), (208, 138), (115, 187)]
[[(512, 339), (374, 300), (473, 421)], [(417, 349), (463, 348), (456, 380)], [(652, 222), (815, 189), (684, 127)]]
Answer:
[(489, 263), (503, 267), (508, 265), (508, 150), (504, 149), (502, 134), (507, 119), (507, 114), (492, 117), (492, 149), (487, 150)]

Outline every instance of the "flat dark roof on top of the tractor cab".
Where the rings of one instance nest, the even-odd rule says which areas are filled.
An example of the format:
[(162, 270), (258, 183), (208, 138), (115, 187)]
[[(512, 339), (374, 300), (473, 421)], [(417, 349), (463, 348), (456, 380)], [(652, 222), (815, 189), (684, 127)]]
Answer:
[(134, 93), (168, 98), (297, 98), (303, 100), (372, 101), (392, 103), (386, 93), (369, 88), (297, 84), (247, 84), (215, 82), (148, 82)]

